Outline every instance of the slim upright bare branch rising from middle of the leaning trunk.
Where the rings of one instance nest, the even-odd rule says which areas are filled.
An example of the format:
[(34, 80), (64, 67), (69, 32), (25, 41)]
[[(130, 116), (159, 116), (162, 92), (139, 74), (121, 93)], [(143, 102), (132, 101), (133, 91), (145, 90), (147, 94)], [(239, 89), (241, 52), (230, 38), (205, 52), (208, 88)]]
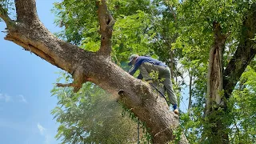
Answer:
[(111, 52), (111, 38), (114, 26), (114, 18), (107, 10), (106, 0), (98, 0), (98, 20), (100, 23), (101, 47), (99, 54), (109, 56)]

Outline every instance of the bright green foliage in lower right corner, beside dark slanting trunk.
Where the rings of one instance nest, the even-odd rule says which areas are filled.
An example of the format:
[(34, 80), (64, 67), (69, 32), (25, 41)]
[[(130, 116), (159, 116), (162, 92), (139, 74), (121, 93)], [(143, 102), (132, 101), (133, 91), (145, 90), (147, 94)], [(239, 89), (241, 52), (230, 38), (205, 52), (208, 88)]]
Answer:
[[(255, 67), (255, 65), (254, 65)], [(234, 134), (232, 142), (238, 143), (255, 143), (256, 136), (256, 71), (251, 66), (248, 66), (246, 71), (242, 74), (240, 82), (236, 90), (234, 90), (234, 97), (230, 99), (233, 106), (233, 120), (231, 130)]]

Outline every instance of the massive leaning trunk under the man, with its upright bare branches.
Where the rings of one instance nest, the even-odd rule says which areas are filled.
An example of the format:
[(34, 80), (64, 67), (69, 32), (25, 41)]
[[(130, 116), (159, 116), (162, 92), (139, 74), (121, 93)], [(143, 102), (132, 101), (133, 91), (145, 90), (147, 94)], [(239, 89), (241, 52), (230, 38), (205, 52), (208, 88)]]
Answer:
[[(96, 53), (70, 45), (51, 34), (38, 19), (35, 0), (15, 0), (17, 20), (9, 18), (0, 6), (0, 18), (7, 26), (5, 39), (66, 70), (74, 78), (73, 83), (58, 86), (74, 86), (74, 90), (78, 91), (84, 82), (94, 82), (114, 94), (142, 122), (146, 122), (154, 143), (174, 140), (178, 116), (169, 111), (165, 100), (158, 97), (149, 84), (130, 76), (110, 61), (114, 19), (107, 10), (105, 0), (97, 4), (102, 37), (101, 47)], [(118, 95), (119, 90), (124, 90), (124, 93)], [(188, 143), (183, 134), (180, 143)]]

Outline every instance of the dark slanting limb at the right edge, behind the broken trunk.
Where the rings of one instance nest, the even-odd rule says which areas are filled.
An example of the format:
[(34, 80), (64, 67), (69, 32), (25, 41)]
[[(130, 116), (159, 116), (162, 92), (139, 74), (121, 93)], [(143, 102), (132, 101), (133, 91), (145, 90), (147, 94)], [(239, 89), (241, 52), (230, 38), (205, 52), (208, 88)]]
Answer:
[(242, 34), (238, 49), (235, 51), (233, 58), (224, 70), (223, 88), (225, 97), (230, 98), (230, 94), (234, 90), (234, 86), (238, 82), (246, 66), (256, 54), (256, 3), (252, 4), (250, 10), (246, 13), (243, 21)]

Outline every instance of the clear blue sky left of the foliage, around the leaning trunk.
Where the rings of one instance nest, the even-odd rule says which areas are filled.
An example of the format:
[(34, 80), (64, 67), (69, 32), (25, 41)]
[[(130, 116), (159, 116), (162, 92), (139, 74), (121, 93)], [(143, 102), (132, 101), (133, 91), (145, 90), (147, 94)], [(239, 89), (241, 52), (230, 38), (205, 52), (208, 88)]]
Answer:
[[(60, 0), (37, 0), (38, 15), (51, 32), (54, 14), (50, 12), (54, 2)], [(0, 22), (0, 30), (6, 25)], [(50, 90), (60, 71), (56, 66), (22, 50), (4, 40), (0, 33), (0, 138), (2, 144), (55, 144), (58, 124), (50, 111), (57, 98)]]

